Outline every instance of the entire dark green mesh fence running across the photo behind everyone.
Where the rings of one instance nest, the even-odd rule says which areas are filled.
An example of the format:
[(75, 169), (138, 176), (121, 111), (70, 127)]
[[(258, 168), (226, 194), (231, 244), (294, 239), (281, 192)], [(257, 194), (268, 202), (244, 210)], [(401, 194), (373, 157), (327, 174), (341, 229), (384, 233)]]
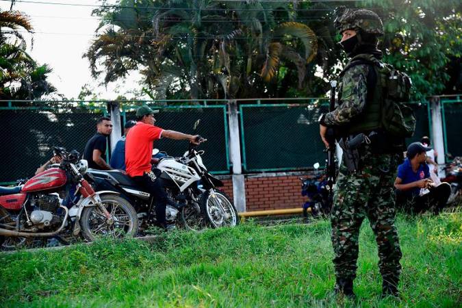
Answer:
[[(306, 103), (310, 101), (310, 103)], [(289, 100), (287, 100), (289, 101)], [(263, 102), (263, 103), (261, 103)], [(249, 101), (240, 104), (240, 133), (244, 172), (266, 172), (311, 168), (324, 165), (326, 154), (319, 137), (318, 118), (327, 112), (326, 99), (300, 99), (294, 104)], [(290, 101), (292, 102), (292, 101)], [(446, 153), (462, 155), (462, 101), (441, 101)], [(96, 122), (107, 116), (107, 102), (14, 102), (0, 106), (0, 183), (31, 177), (38, 166), (51, 158), (53, 146), (84, 151), (96, 132)], [(198, 149), (204, 150), (205, 166), (214, 173), (229, 174), (229, 123), (227, 101), (177, 101), (178, 105), (139, 101), (121, 103), (121, 124), (136, 119), (136, 108), (147, 103), (161, 112), (155, 125), (163, 129), (199, 134), (207, 138)], [(210, 103), (210, 102), (209, 102)], [(162, 104), (162, 103), (161, 103)], [(181, 105), (183, 104), (183, 105)], [(184, 105), (189, 104), (189, 105)], [(413, 138), (407, 144), (431, 134), (428, 103), (411, 104), (417, 118)], [(198, 125), (195, 125), (198, 123)], [(194, 127), (196, 128), (194, 129)], [(123, 129), (122, 129), (123, 131)], [(188, 142), (161, 139), (155, 147), (168, 155), (180, 156)], [(109, 159), (109, 152), (107, 159)]]

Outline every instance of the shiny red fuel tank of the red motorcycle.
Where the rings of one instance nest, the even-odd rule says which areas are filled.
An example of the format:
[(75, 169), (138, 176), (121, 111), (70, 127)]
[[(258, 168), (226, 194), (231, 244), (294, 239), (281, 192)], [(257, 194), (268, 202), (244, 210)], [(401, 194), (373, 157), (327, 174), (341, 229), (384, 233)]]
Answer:
[(64, 184), (66, 184), (66, 172), (60, 168), (49, 168), (29, 179), (21, 191), (55, 190)]

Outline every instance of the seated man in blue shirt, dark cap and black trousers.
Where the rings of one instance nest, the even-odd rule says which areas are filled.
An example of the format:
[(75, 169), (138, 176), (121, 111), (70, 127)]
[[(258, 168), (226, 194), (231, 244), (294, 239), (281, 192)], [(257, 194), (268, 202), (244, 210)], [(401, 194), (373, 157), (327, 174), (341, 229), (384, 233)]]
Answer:
[(450, 185), (435, 185), (430, 179), (430, 170), (426, 164), (426, 151), (429, 150), (431, 148), (420, 142), (409, 144), (407, 159), (398, 166), (398, 176), (394, 184), (396, 203), (406, 211), (422, 213), (433, 209), (438, 213), (448, 201)]

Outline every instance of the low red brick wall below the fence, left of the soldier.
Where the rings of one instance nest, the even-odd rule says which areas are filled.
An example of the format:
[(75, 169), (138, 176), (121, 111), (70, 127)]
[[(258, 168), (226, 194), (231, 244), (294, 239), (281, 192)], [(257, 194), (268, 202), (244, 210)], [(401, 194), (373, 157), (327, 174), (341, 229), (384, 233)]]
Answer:
[[(294, 209), (302, 207), (306, 196), (301, 195), (300, 177), (305, 175), (281, 175), (255, 177), (246, 175), (246, 211), (261, 211), (264, 209)], [(233, 198), (233, 181), (222, 179), (226, 192)]]

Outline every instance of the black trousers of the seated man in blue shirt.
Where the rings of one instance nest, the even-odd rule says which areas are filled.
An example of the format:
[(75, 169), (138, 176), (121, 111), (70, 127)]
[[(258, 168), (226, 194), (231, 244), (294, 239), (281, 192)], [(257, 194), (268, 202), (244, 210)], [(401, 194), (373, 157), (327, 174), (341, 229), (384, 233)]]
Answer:
[(409, 213), (423, 213), (428, 209), (432, 209), (435, 213), (438, 213), (448, 202), (450, 194), (451, 185), (446, 182), (431, 188), (430, 192), (422, 196), (406, 196), (397, 190), (396, 205)]

